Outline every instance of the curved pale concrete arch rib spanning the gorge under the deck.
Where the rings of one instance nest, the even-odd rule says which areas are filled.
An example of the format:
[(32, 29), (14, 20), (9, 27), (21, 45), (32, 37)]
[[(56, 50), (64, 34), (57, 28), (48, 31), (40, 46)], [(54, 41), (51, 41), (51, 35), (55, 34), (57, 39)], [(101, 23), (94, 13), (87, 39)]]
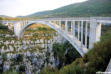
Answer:
[[(79, 54), (81, 56), (83, 56), (86, 53), (86, 51), (83, 51), (83, 49), (75, 42), (76, 40), (73, 39), (73, 36), (67, 34), (65, 31), (61, 30), (61, 28), (56, 23), (51, 23), (51, 22), (46, 22), (46, 21), (31, 22), (21, 28), (21, 30), (18, 33), (18, 37), (21, 38), (24, 34), (25, 29), (35, 23), (45, 24), (45, 25), (49, 26), (50, 28), (54, 29), (55, 31), (57, 31), (60, 35), (62, 35), (66, 40), (68, 40), (73, 45), (73, 47), (79, 52)], [(86, 50), (86, 49), (84, 49), (84, 50)]]

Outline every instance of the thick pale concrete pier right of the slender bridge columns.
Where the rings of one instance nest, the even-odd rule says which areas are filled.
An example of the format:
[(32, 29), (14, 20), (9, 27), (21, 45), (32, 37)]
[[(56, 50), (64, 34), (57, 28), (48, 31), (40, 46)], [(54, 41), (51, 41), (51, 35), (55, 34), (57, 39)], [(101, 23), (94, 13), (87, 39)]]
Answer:
[(101, 36), (101, 24), (97, 24), (96, 19), (90, 21), (90, 36), (89, 36), (89, 48), (93, 47), (93, 44), (100, 40)]

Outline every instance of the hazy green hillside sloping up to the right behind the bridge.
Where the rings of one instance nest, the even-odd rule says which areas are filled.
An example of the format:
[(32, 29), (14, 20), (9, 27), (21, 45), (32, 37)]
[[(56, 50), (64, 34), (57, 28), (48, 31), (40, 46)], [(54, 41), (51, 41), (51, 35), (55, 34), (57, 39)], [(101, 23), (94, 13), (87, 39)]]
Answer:
[(25, 17), (88, 17), (111, 16), (111, 0), (88, 0), (51, 11), (37, 12)]

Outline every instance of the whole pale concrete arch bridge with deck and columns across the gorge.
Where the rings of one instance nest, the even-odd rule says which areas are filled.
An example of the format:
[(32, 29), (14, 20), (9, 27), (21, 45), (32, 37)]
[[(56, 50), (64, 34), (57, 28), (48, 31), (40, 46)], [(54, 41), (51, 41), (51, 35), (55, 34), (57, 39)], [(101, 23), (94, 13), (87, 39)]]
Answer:
[[(8, 23), (13, 23), (9, 21)], [(45, 18), (37, 20), (14, 21), (14, 33), (21, 38), (30, 25), (45, 24), (68, 40), (73, 47), (84, 55), (101, 37), (101, 25), (110, 24), (111, 17)]]

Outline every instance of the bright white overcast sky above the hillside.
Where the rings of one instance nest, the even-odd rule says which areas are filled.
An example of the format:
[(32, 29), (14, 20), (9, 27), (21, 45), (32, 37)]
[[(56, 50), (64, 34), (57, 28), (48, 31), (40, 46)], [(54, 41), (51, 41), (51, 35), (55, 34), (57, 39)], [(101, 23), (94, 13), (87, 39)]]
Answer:
[(86, 0), (0, 0), (0, 15), (25, 16)]

